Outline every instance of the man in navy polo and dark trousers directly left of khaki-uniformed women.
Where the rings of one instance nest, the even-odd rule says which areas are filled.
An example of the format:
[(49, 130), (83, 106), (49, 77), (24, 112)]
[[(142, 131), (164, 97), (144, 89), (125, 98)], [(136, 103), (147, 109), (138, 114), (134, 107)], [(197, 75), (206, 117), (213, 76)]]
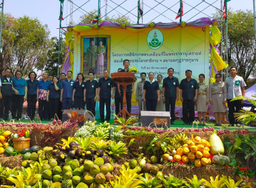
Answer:
[(183, 108), (183, 125), (191, 125), (195, 120), (195, 103), (197, 102), (199, 85), (195, 79), (191, 79), (191, 70), (187, 70), (185, 73), (187, 78), (181, 81), (179, 87)]

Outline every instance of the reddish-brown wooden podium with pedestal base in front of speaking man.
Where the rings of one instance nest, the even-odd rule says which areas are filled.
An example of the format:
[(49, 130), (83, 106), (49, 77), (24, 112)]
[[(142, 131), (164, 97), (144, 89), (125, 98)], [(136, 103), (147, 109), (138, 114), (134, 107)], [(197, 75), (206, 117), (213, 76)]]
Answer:
[(135, 83), (135, 81), (137, 80), (135, 78), (135, 73), (127, 73), (127, 72), (112, 73), (111, 78), (113, 79), (113, 81), (115, 81), (115, 83), (123, 86), (123, 108), (121, 109), (121, 111), (119, 111), (117, 116), (119, 116), (120, 113), (122, 113), (122, 118), (125, 119), (126, 114), (130, 117), (131, 115), (129, 114), (129, 112), (126, 110), (126, 107), (125, 107), (126, 106), (126, 88), (127, 88), (127, 85)]

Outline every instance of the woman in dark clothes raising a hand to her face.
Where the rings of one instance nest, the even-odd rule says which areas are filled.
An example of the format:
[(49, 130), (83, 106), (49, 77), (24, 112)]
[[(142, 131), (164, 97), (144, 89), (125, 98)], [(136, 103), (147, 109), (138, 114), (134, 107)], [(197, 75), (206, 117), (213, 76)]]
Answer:
[(53, 77), (53, 83), (48, 87), (47, 98), (49, 102), (49, 118), (53, 120), (55, 114), (59, 114), (59, 103), (61, 98), (61, 83), (59, 83), (58, 77)]

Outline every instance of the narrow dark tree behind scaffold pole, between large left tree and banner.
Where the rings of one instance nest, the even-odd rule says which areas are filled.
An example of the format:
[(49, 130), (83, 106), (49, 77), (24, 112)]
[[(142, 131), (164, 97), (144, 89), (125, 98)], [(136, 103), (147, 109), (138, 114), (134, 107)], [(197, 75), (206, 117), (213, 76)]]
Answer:
[(63, 65), (63, 62), (65, 60), (65, 50), (67, 50), (67, 46), (65, 45), (65, 41), (61, 39), (61, 52), (60, 52), (60, 63), (58, 64), (58, 58), (59, 58), (59, 39), (57, 37), (51, 38), (50, 46), (48, 52), (47, 52), (47, 60), (45, 64), (44, 70), (49, 73), (49, 75), (58, 75), (58, 66), (59, 71), (61, 71), (61, 66)]

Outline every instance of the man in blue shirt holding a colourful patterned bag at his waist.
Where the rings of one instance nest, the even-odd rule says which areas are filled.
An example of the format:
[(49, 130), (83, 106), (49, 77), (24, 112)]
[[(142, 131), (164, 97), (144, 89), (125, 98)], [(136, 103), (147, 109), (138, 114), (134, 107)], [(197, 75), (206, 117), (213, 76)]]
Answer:
[(49, 104), (47, 99), (47, 89), (51, 82), (48, 80), (48, 73), (42, 73), (42, 80), (38, 82), (36, 96), (38, 99), (38, 115), (40, 120), (47, 120), (49, 114)]

